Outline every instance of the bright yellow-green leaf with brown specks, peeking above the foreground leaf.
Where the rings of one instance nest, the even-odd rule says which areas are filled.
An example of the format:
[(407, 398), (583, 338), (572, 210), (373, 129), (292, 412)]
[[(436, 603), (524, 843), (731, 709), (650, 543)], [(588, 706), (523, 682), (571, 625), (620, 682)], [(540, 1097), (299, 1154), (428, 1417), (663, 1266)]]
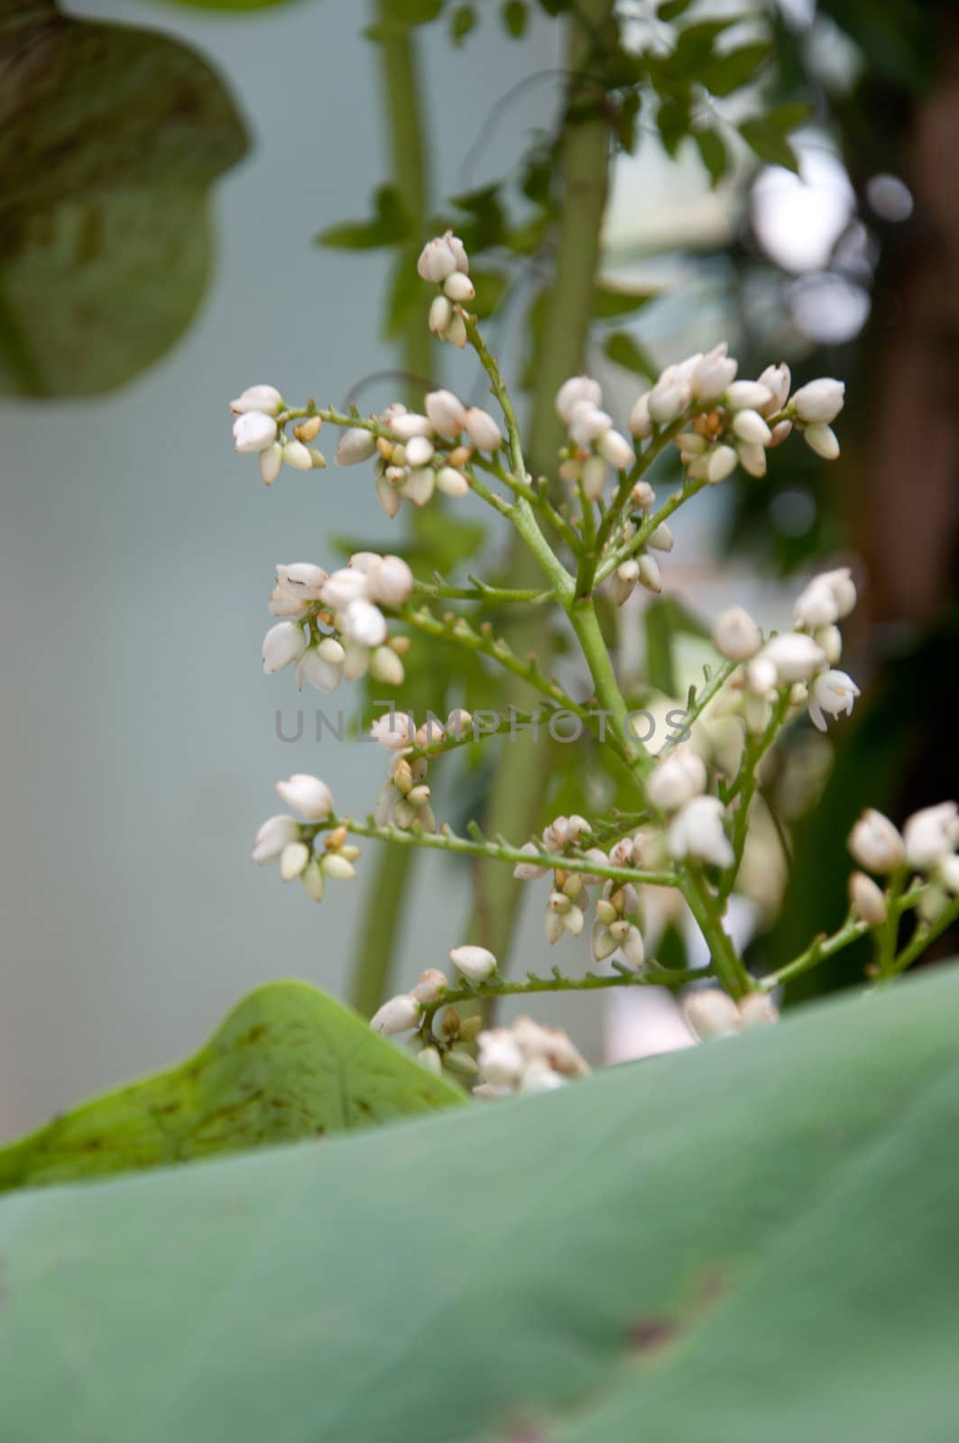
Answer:
[(306, 983), (267, 983), (166, 1072), (104, 1092), (0, 1150), (0, 1190), (192, 1162), (464, 1101)]

